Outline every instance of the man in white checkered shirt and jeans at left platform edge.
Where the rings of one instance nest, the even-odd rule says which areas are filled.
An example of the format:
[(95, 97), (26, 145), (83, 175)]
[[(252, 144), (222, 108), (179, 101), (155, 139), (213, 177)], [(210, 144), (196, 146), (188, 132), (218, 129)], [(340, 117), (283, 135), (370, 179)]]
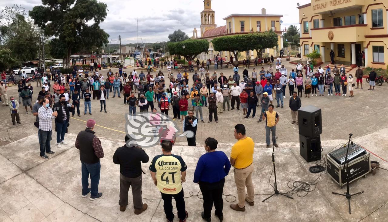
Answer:
[(52, 132), (52, 119), (58, 115), (57, 111), (53, 112), (50, 108), (49, 99), (43, 99), (42, 107), (38, 109), (39, 116), (39, 137), (40, 137), (40, 157), (48, 159), (49, 157), (45, 154), (54, 154), (51, 151), (50, 141)]

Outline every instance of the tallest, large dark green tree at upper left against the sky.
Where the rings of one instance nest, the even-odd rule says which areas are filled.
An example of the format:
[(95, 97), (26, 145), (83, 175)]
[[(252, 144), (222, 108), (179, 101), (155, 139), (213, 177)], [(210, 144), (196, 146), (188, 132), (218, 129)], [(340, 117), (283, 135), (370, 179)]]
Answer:
[(72, 53), (92, 51), (108, 43), (109, 35), (99, 24), (107, 16), (107, 5), (97, 0), (42, 0), (29, 11), (34, 24), (53, 36), (50, 54), (70, 65)]

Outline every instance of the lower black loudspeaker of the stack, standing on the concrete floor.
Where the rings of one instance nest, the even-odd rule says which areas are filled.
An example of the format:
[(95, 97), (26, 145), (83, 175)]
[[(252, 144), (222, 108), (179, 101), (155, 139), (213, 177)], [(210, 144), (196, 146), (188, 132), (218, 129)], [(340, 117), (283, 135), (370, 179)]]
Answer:
[(300, 155), (307, 162), (320, 160), (320, 136), (311, 138), (299, 135), (299, 149)]

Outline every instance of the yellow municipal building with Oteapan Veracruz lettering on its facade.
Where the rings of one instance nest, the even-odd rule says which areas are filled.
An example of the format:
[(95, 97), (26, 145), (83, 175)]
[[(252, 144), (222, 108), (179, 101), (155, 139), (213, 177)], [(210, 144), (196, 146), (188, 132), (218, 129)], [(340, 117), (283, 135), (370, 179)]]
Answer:
[(336, 64), (386, 68), (388, 0), (311, 0), (298, 9), (303, 58), (316, 49), (331, 62), (333, 50)]

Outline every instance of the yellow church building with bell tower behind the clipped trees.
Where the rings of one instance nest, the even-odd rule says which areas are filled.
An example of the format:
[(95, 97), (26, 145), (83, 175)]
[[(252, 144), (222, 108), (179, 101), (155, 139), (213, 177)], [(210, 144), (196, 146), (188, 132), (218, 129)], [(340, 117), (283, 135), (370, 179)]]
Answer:
[[(213, 38), (225, 35), (240, 35), (256, 31), (269, 31), (270, 29), (278, 34), (278, 47), (277, 49), (266, 49), (265, 52), (263, 52), (263, 56), (265, 54), (268, 54), (269, 56), (271, 56), (271, 54), (273, 56), (279, 55), (279, 53), (276, 54), (276, 52), (279, 52), (279, 50), (283, 48), (283, 37), (280, 28), (280, 18), (283, 17), (282, 15), (266, 14), (265, 9), (262, 9), (262, 14), (231, 14), (223, 18), (223, 20), (226, 22), (224, 26), (217, 27), (217, 24), (215, 24), (215, 11), (211, 9), (211, 0), (204, 0), (203, 6), (204, 9), (201, 12), (200, 26), (201, 36), (198, 36), (198, 31), (196, 28), (194, 28), (192, 36), (192, 38), (206, 39), (210, 42), (208, 54), (202, 53), (198, 56), (201, 61), (206, 61), (206, 59), (214, 59), (217, 55), (226, 58), (226, 61), (229, 61), (229, 57), (233, 56), (231, 52), (214, 51), (213, 44), (211, 43)], [(241, 56), (243, 58), (239, 60), (242, 61), (242, 59), (247, 58), (255, 59), (257, 54), (256, 51), (249, 50), (242, 52)]]

